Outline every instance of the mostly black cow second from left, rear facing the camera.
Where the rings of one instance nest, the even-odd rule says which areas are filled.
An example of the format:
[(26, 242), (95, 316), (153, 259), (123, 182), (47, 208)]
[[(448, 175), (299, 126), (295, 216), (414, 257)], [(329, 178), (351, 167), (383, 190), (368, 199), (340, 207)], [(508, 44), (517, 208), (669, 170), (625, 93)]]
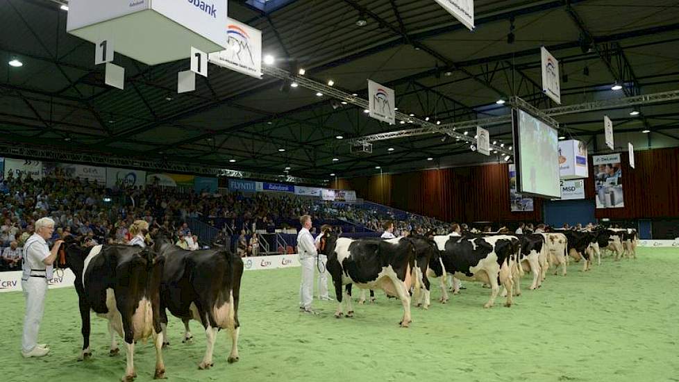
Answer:
[[(172, 244), (163, 233), (154, 235), (153, 251), (165, 257), (160, 283), (160, 321), (165, 333), (167, 313), (179, 317), (188, 330), (190, 319), (203, 324), (207, 349), (200, 369), (210, 368), (217, 331), (228, 329), (231, 336), (229, 363), (238, 360), (238, 302), (243, 260), (226, 249), (186, 251)], [(185, 340), (188, 334), (185, 334)]]

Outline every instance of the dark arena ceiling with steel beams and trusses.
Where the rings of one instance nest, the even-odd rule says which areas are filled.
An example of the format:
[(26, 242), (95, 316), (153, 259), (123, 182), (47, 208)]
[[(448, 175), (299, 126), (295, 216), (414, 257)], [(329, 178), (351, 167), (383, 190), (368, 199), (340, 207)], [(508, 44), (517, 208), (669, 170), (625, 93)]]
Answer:
[[(264, 53), (276, 66), (295, 61), (306, 76), (333, 79), (363, 97), (371, 78), (394, 88), (400, 111), (443, 123), (504, 115), (508, 108), (495, 101), (512, 95), (555, 106), (540, 91), (541, 45), (563, 63), (564, 105), (678, 89), (679, 1), (475, 3), (473, 32), (431, 0), (278, 1), (267, 12), (229, 1), (228, 13), (262, 30)], [(361, 13), (366, 26), (355, 24)], [(355, 106), (333, 108), (311, 90), (281, 92), (276, 78), (215, 66), (195, 92), (176, 94), (176, 73), (187, 60), (149, 67), (117, 55), (126, 87), (110, 88), (103, 67), (94, 65), (94, 45), (68, 35), (66, 18), (55, 1), (0, 1), (0, 141), (267, 174), (291, 167), (291, 175), (316, 179), (372, 174), (376, 166), (399, 172), (497, 160), (435, 134), (374, 142), (370, 156), (353, 156), (346, 139), (408, 125), (380, 124)], [(24, 66), (6, 65), (14, 57)], [(625, 88), (612, 92), (616, 80)], [(619, 142), (676, 146), (676, 103), (643, 106), (636, 117), (629, 112), (605, 112)], [(603, 146), (596, 136), (603, 112), (557, 119), (562, 135), (586, 140), (592, 151)], [(511, 140), (510, 126), (489, 130)]]

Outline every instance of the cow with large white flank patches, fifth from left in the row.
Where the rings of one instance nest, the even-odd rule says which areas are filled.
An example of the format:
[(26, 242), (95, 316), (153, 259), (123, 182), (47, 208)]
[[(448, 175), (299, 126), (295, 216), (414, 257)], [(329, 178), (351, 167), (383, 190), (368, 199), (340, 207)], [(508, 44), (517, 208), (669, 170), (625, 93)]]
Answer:
[[(487, 237), (434, 236), (439, 249), (441, 265), (430, 262), (434, 272), (446, 272), (460, 280), (480, 281), (491, 286), (491, 297), (484, 305), (490, 308), (502, 284), (511, 291), (513, 286), (512, 268), (516, 267), (519, 240), (515, 236), (495, 235)], [(499, 282), (499, 283), (498, 283)], [(455, 290), (455, 292), (459, 292)], [(512, 306), (512, 293), (507, 294), (505, 306)]]

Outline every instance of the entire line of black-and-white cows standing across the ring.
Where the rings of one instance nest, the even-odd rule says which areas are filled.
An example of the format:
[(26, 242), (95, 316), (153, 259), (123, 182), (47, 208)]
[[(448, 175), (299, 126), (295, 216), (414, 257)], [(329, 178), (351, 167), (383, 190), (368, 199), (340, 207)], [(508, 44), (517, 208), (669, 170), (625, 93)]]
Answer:
[[(185, 324), (184, 342), (192, 335), (188, 322), (203, 325), (207, 349), (200, 369), (213, 365), (212, 353), (217, 332), (227, 329), (232, 340), (227, 360), (238, 360), (238, 303), (243, 262), (224, 248), (185, 251), (171, 238), (158, 233), (151, 247), (99, 245), (79, 247), (75, 242), (62, 246), (57, 267), (70, 268), (76, 276), (76, 292), (82, 320), (83, 348), (79, 360), (90, 351), (90, 311), (108, 319), (110, 355), (119, 353), (116, 333), (124, 338), (127, 365), (123, 381), (135, 376), (134, 349), (137, 340), (152, 338), (156, 347), (155, 378), (165, 376), (162, 348), (167, 340), (167, 313)], [(426, 235), (389, 240), (338, 238), (326, 233), (319, 253), (328, 256), (327, 272), (335, 286), (338, 306), (335, 317), (353, 315), (351, 286), (363, 290), (384, 290), (403, 304), (401, 326), (408, 326), (410, 302), (430, 306), (430, 278), (438, 278), (442, 297), (448, 301), (448, 278), (480, 281), (489, 285), (493, 306), (503, 287), (505, 306), (521, 294), (519, 279), (533, 274), (530, 289), (538, 288), (553, 266), (562, 266), (565, 276), (569, 256), (584, 259), (583, 271), (592, 267), (594, 257), (601, 263), (601, 251), (636, 258), (637, 233), (634, 230), (596, 229), (559, 231), (530, 235)], [(459, 292), (459, 283), (453, 294)], [(343, 290), (346, 297), (343, 299)], [(344, 301), (343, 301), (344, 300)]]

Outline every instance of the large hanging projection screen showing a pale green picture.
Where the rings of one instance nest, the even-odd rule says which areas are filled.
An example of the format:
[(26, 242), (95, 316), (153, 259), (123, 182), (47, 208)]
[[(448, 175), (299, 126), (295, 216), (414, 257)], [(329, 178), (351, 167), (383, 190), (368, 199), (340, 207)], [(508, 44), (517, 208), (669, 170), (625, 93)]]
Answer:
[(512, 110), (517, 188), (521, 194), (561, 197), (558, 131), (523, 110)]

